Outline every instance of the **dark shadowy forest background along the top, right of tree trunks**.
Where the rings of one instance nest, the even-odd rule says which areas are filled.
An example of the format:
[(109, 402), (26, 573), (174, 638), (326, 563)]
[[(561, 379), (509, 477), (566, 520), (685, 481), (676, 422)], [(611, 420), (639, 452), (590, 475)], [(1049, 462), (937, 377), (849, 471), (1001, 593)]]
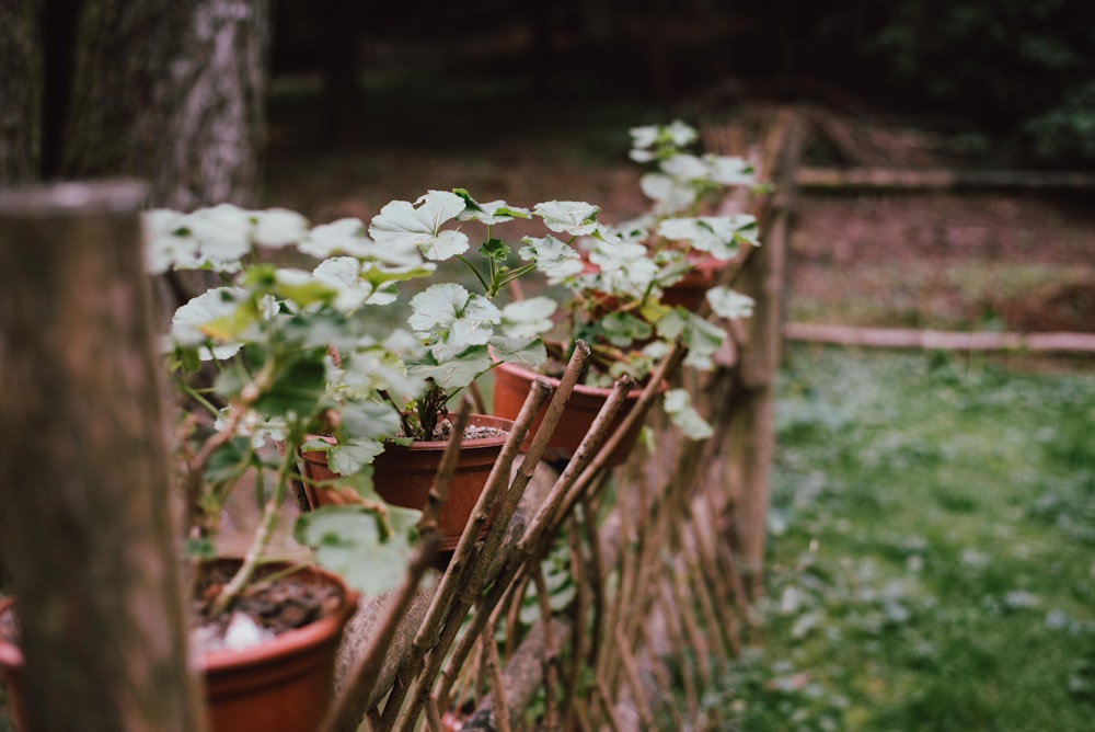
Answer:
[[(1095, 4), (1079, 0), (427, 0), (276, 4), (275, 76), (323, 71), (327, 110), (376, 77), (440, 65), (545, 102), (733, 95), (900, 115), (993, 164), (1095, 163)], [(322, 12), (320, 12), (322, 11)], [(443, 95), (443, 87), (435, 87)]]

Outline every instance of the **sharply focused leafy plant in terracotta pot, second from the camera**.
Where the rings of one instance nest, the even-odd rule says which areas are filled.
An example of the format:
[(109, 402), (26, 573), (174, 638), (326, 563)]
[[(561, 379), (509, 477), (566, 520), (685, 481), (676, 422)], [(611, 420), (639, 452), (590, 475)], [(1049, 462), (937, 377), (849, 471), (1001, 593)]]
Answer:
[[(384, 249), (416, 251), (428, 265), (458, 263), (458, 272), (438, 276), (410, 299), (407, 325), (416, 348), (406, 353), (406, 375), (420, 385), (406, 389), (377, 389), (380, 400), (397, 416), (395, 433), (373, 443), (372, 478), (377, 492), (389, 503), (425, 505), (441, 451), (448, 439), (447, 405), (453, 397), (499, 363), (535, 367), (546, 358), (540, 334), (552, 327), (556, 309), (546, 297), (532, 297), (499, 307), (500, 295), (518, 278), (533, 272), (549, 273), (577, 253), (565, 245), (522, 249), (522, 262), (510, 262), (511, 248), (495, 235), (497, 227), (515, 220), (538, 219), (549, 230), (585, 231), (592, 207), (577, 209), (567, 202), (538, 204), (534, 210), (505, 202), (480, 203), (466, 191), (429, 191), (414, 203), (393, 201), (368, 227), (369, 240)], [(464, 228), (483, 228), (483, 242), (472, 252)], [(442, 264), (443, 265), (443, 264)], [(464, 273), (464, 283), (457, 275)], [(442, 549), (453, 549), (479, 493), (508, 433), (509, 419), (473, 414), (462, 442), (461, 457), (439, 517)], [(341, 500), (328, 487), (339, 484), (342, 454), (356, 449), (331, 436), (304, 445), (309, 502), (324, 505)], [(353, 467), (353, 466), (351, 466)]]

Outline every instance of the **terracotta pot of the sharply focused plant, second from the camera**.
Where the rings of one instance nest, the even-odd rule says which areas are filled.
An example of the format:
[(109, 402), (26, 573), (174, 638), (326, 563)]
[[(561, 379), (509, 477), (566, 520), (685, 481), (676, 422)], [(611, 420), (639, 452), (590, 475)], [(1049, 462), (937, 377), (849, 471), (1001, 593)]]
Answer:
[[(489, 414), (472, 414), (468, 423), (479, 427), (497, 427), (507, 434), (465, 439), (461, 443), (460, 459), (452, 474), (452, 482), (449, 483), (449, 495), (441, 504), (437, 519), (441, 551), (452, 551), (460, 542), (460, 535), (472, 516), (475, 503), (502, 453), (502, 446), (514, 426), (511, 420)], [(417, 442), (408, 446), (389, 445), (384, 448), (372, 464), (372, 483), (380, 497), (404, 508), (425, 508), (429, 500), (429, 487), (437, 474), (447, 444), (445, 441)], [(338, 478), (327, 467), (326, 453), (306, 451), (301, 457), (306, 478), (315, 481)], [(332, 503), (322, 489), (308, 485), (304, 493), (313, 508)]]

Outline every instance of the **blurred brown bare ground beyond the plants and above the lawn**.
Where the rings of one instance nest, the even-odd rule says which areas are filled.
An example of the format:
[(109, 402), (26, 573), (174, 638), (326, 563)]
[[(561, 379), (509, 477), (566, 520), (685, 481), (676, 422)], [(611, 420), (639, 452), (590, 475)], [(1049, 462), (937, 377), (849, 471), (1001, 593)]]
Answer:
[[(930, 138), (814, 119), (807, 155), (829, 164), (937, 165)], [(267, 202), (315, 220), (368, 220), (392, 198), (466, 187), (481, 201), (589, 201), (618, 220), (644, 205), (626, 159), (629, 123), (550, 127), (451, 147), (387, 140), (322, 152), (275, 121)], [(825, 130), (844, 135), (843, 159)], [(850, 140), (854, 140), (850, 141)], [(926, 140), (926, 141), (925, 141)], [(874, 147), (871, 147), (871, 146)], [(860, 160), (848, 160), (858, 156)], [(806, 193), (792, 240), (791, 319), (852, 325), (1095, 331), (1095, 191)]]

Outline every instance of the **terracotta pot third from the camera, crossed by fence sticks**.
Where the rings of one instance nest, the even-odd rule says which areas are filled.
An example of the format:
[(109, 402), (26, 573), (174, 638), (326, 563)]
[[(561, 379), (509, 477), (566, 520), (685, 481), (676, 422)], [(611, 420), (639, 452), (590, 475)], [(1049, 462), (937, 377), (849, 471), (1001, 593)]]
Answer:
[[(515, 364), (499, 364), (498, 366), (495, 366), (493, 373), (494, 412), (495, 414), (507, 419), (516, 418), (521, 411), (521, 407), (525, 404), (525, 399), (528, 397), (529, 389), (535, 379), (544, 378), (549, 384), (555, 387), (560, 384), (558, 379), (537, 374), (535, 371), (522, 368)], [(586, 433), (589, 432), (589, 427), (593, 423), (593, 418), (597, 416), (597, 413), (600, 411), (601, 407), (604, 405), (604, 402), (611, 393), (611, 389), (600, 387), (587, 387), (583, 385), (574, 387), (574, 391), (570, 393), (570, 399), (566, 403), (566, 409), (563, 410), (563, 415), (560, 418), (558, 425), (555, 427), (555, 432), (552, 436), (548, 439), (548, 448), (544, 450), (544, 459), (570, 459), (575, 450), (578, 449), (578, 445), (581, 444), (583, 437), (585, 437)], [(616, 412), (616, 415), (610, 425), (610, 431), (614, 432), (620, 426), (624, 418), (627, 416), (634, 408), (635, 402), (638, 401), (642, 393), (642, 389), (633, 389), (627, 392), (623, 405), (620, 408), (620, 411)], [(546, 411), (548, 407), (545, 404), (540, 408), (539, 412), (537, 412), (535, 418), (532, 420), (532, 426), (529, 428), (529, 436), (526, 437), (525, 442), (521, 444), (521, 449), (528, 449), (529, 444), (532, 441), (532, 436), (540, 428), (540, 423), (543, 422), (544, 413)], [(627, 431), (627, 434), (609, 456), (607, 462), (608, 466), (615, 467), (623, 465), (627, 460), (627, 456), (631, 455), (632, 448), (634, 448), (635, 443), (638, 442), (638, 434), (642, 428), (643, 423), (639, 421)]]

